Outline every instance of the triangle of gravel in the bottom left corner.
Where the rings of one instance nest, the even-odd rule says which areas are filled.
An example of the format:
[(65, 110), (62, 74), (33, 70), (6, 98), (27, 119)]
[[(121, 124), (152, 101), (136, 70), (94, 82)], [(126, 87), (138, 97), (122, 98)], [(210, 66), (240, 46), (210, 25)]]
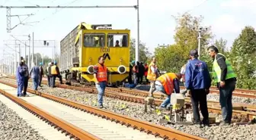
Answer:
[(0, 101), (0, 140), (45, 140), (13, 110)]

